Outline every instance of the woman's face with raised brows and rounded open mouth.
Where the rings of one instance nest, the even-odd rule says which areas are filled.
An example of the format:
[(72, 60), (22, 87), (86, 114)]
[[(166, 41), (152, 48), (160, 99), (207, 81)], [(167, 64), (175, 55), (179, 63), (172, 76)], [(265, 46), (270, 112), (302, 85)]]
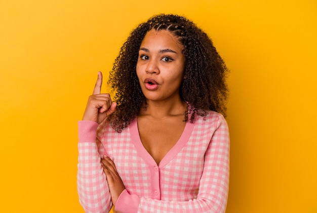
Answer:
[(183, 46), (167, 30), (150, 30), (139, 49), (136, 66), (141, 89), (147, 100), (179, 99), (185, 57)]

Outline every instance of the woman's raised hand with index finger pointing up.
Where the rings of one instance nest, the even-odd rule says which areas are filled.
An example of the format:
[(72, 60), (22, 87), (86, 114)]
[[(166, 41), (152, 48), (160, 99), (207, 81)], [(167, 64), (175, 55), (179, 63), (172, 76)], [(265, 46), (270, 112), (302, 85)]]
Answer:
[(101, 94), (102, 73), (98, 72), (98, 79), (93, 95), (89, 96), (83, 121), (94, 121), (100, 124), (116, 109), (116, 102), (111, 101), (109, 94)]

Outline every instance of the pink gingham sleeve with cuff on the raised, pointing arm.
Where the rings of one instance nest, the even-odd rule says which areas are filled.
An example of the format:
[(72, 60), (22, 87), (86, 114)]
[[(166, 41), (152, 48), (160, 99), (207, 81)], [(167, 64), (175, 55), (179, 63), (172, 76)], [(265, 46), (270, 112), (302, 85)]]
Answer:
[[(106, 154), (97, 138), (98, 123), (78, 122), (77, 192), (85, 212), (109, 212), (111, 196), (100, 158)], [(97, 138), (97, 139), (96, 139)]]

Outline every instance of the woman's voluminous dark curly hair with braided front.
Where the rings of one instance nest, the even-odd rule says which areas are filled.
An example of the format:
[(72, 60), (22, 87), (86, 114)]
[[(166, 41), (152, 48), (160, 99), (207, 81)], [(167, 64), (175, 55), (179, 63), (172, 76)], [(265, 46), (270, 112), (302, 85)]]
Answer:
[(146, 98), (136, 74), (139, 48), (149, 30), (168, 30), (183, 45), (185, 56), (184, 80), (180, 86), (180, 97), (187, 102), (184, 121), (193, 122), (195, 115), (206, 116), (215, 111), (226, 116), (228, 69), (213, 46), (211, 39), (192, 21), (178, 15), (160, 14), (149, 18), (131, 31), (127, 41), (113, 63), (108, 85), (115, 94), (117, 109), (108, 120), (113, 128), (121, 132), (135, 119)]

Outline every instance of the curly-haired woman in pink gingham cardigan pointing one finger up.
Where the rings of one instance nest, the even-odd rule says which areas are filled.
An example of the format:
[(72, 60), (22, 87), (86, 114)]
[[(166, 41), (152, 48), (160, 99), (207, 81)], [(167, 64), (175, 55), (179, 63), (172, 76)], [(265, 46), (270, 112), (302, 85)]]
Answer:
[(177, 15), (134, 29), (79, 122), (86, 212), (224, 212), (227, 68), (208, 35)]

